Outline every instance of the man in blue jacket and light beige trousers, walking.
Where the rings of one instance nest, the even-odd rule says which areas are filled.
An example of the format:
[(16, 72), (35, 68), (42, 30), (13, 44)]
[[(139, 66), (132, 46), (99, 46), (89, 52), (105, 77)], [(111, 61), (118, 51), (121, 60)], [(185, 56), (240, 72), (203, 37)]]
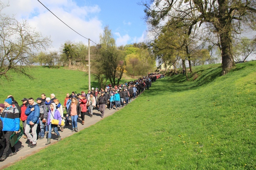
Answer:
[[(27, 117), (27, 124), (25, 128), (25, 134), (30, 141), (28, 147), (34, 148), (37, 146), (37, 126), (39, 123), (39, 115), (40, 115), (40, 108), (37, 103), (34, 102), (33, 98), (28, 99), (28, 107), (25, 111)], [(30, 130), (32, 129), (32, 135), (30, 134)]]

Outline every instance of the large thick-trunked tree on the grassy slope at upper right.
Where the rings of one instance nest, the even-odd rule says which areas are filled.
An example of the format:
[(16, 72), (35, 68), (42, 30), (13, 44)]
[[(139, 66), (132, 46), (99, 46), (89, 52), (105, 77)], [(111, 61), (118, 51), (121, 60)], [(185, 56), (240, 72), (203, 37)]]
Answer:
[(222, 75), (232, 69), (232, 36), (241, 33), (240, 26), (255, 29), (255, 0), (155, 0), (143, 3), (146, 21), (158, 27), (168, 19), (189, 21), (190, 26), (199, 23), (207, 26), (219, 38), (222, 54)]

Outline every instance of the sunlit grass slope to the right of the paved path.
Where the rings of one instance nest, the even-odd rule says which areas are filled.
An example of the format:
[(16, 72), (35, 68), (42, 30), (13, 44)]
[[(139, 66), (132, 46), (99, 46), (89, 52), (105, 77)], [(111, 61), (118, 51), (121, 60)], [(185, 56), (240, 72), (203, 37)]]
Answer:
[(198, 66), (195, 80), (157, 80), (114, 115), (8, 169), (254, 169), (255, 66), (222, 77), (220, 65)]

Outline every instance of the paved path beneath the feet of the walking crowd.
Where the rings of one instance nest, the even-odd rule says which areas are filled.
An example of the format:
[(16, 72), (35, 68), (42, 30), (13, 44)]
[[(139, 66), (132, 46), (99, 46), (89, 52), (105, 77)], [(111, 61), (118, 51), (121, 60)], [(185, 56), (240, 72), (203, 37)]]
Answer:
[[(132, 99), (131, 101), (133, 101), (134, 99)], [(125, 107), (125, 106), (124, 106)], [(122, 109), (123, 107), (121, 106), (120, 109)], [(94, 109), (93, 110), (93, 117), (90, 117), (89, 114), (85, 115), (85, 124), (82, 125), (82, 120), (81, 119), (77, 119), (77, 128), (78, 131), (81, 131), (95, 123), (97, 123), (98, 121), (104, 119), (105, 117), (108, 117), (112, 114), (114, 114), (116, 111), (115, 109), (105, 109), (105, 113), (104, 113), (104, 117), (101, 118), (101, 113), (97, 110)], [(65, 111), (66, 112), (66, 111)], [(71, 120), (71, 119), (70, 119)], [(70, 121), (71, 122), (71, 121)], [(58, 128), (58, 132), (60, 133), (61, 138), (65, 138), (68, 137), (70, 135), (73, 135), (77, 132), (71, 132), (72, 131), (72, 125), (69, 126), (64, 126), (64, 130), (63, 132), (60, 132), (60, 129)], [(47, 136), (47, 135), (46, 135)], [(35, 154), (37, 152), (39, 152), (41, 149), (46, 148), (47, 146), (50, 145), (54, 145), (54, 143), (57, 142), (57, 135), (54, 135), (54, 133), (52, 133), (52, 140), (51, 140), (51, 144), (50, 145), (45, 145), (45, 143), (47, 142), (47, 138), (41, 139), (41, 140), (37, 140), (37, 146), (34, 148), (30, 148), (28, 147), (28, 143), (29, 140), (24, 139), (23, 137), (19, 139), (19, 141), (15, 144), (15, 148), (16, 148), (16, 155), (13, 155), (11, 157), (7, 157), (6, 160), (4, 160), (3, 162), (0, 162), (0, 169), (6, 168), (11, 166), (13, 163), (29, 156), (32, 154)], [(9, 149), (9, 153), (7, 155), (9, 155), (11, 153), (11, 150)]]

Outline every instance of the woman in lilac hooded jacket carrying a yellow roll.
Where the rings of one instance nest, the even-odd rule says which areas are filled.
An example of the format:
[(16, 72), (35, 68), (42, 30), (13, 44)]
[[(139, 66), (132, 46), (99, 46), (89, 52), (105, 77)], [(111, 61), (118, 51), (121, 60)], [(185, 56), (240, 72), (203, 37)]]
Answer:
[(47, 142), (45, 143), (45, 145), (49, 145), (51, 143), (51, 138), (52, 138), (52, 129), (54, 130), (54, 132), (57, 134), (58, 136), (58, 140), (61, 140), (61, 136), (58, 132), (58, 125), (56, 124), (52, 124), (53, 119), (59, 120), (59, 125), (61, 124), (61, 115), (59, 113), (59, 111), (56, 109), (56, 104), (55, 103), (51, 103), (50, 104), (50, 110), (48, 112), (48, 118), (47, 118), (47, 125), (48, 125), (48, 138), (47, 138)]

